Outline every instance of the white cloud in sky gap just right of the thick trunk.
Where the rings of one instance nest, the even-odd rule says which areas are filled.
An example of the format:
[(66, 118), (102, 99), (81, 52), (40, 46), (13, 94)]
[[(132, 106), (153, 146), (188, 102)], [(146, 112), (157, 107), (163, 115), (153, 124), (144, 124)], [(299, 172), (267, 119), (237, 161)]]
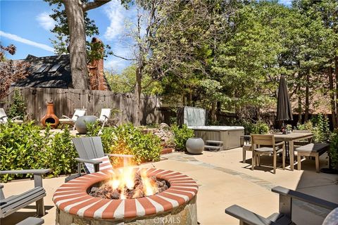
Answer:
[(104, 38), (111, 41), (123, 34), (126, 18), (125, 15), (128, 11), (123, 8), (120, 1), (113, 0), (107, 4), (106, 8), (104, 8), (104, 12), (111, 21), (111, 24), (107, 27), (107, 30), (104, 33)]

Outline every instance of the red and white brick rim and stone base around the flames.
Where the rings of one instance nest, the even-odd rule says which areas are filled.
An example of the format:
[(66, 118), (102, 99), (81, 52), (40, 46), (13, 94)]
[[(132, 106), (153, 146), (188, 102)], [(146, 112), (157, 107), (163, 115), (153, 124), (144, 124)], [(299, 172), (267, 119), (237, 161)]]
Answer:
[(142, 198), (104, 199), (89, 195), (94, 184), (111, 178), (114, 170), (103, 170), (73, 179), (53, 196), (56, 224), (197, 224), (198, 186), (187, 175), (163, 169), (135, 168), (170, 184), (161, 193)]

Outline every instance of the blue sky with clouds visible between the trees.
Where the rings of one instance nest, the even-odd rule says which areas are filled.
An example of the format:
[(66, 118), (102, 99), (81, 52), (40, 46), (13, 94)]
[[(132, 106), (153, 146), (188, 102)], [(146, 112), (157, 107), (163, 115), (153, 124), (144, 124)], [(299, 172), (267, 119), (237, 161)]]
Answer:
[[(289, 6), (291, 0), (280, 0), (281, 4)], [(7, 46), (14, 44), (17, 52), (11, 59), (25, 58), (28, 54), (34, 56), (52, 56), (54, 49), (49, 39), (54, 39), (50, 32), (54, 20), (49, 17), (51, 6), (42, 0), (0, 0), (0, 41)], [(109, 44), (114, 53), (125, 58), (132, 58), (132, 41), (126, 37), (125, 24), (135, 20), (134, 8), (126, 10), (120, 5), (120, 0), (112, 0), (108, 4), (89, 11), (89, 18), (95, 20), (99, 27), (99, 39)], [(106, 70), (121, 72), (130, 65), (114, 56), (108, 56), (104, 63)]]

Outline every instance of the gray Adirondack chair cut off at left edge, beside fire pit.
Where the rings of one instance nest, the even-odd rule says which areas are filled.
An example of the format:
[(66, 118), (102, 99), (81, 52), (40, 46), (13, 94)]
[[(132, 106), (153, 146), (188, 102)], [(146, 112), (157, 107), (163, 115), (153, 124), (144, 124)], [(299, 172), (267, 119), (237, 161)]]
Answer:
[[(37, 205), (37, 215), (44, 216), (44, 196), (46, 196), (46, 191), (42, 187), (42, 175), (50, 171), (51, 169), (21, 169), (0, 171), (0, 174), (34, 174), (35, 184), (35, 188), (32, 188), (30, 191), (26, 191), (20, 195), (12, 195), (8, 198), (4, 197), (4, 192), (2, 191), (4, 186), (0, 185), (0, 218), (7, 217), (13, 212), (16, 212), (34, 202), (36, 202)], [(43, 220), (27, 218), (24, 221), (30, 221), (31, 224), (42, 224), (41, 221)]]

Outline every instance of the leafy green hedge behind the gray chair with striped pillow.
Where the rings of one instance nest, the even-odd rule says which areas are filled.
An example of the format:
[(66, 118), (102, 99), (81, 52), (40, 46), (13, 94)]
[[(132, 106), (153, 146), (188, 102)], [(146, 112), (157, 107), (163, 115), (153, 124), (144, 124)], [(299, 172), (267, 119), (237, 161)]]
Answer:
[[(73, 146), (70, 131), (65, 128), (51, 134), (50, 128), (41, 130), (34, 122), (15, 124), (9, 121), (0, 124), (0, 169), (42, 169), (50, 168), (49, 176), (75, 172), (77, 152)], [(134, 155), (134, 162), (155, 162), (160, 160), (161, 140), (154, 134), (143, 134), (132, 124), (120, 127), (106, 127), (100, 131), (99, 124), (89, 126), (89, 136), (100, 135), (106, 153)], [(1, 181), (15, 177), (1, 176)]]

